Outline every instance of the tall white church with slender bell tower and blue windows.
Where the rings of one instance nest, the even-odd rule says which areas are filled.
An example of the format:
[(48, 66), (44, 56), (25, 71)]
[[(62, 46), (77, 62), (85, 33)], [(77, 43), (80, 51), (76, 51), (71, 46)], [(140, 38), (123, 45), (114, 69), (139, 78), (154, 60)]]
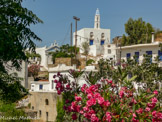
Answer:
[[(77, 47), (81, 48), (83, 42), (89, 43), (89, 55), (91, 56), (108, 54), (107, 45), (110, 44), (110, 29), (100, 28), (99, 9), (96, 10), (94, 28), (83, 28), (77, 31)], [(73, 35), (73, 45), (75, 45), (75, 33)], [(83, 51), (80, 50), (80, 53), (83, 53)]]

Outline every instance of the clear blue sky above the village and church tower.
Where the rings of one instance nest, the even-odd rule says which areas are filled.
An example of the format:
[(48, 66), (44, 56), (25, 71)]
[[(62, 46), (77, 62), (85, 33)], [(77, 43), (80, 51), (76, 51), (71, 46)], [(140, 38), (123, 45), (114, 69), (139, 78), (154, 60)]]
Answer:
[(24, 0), (23, 6), (32, 10), (44, 24), (31, 26), (43, 40), (37, 46), (70, 43), (70, 23), (80, 18), (78, 30), (94, 27), (96, 9), (100, 10), (101, 28), (111, 29), (111, 39), (125, 33), (124, 24), (130, 17), (142, 17), (162, 30), (162, 0)]

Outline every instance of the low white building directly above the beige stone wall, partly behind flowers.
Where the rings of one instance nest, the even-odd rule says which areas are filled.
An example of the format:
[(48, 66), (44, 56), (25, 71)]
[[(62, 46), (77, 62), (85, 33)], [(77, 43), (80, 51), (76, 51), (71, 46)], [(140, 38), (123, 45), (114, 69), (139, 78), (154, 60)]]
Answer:
[[(69, 74), (69, 70), (78, 70), (76, 69), (76, 66), (66, 66), (65, 64), (59, 64), (56, 67), (53, 68), (49, 68), (48, 72), (49, 72), (49, 81), (33, 81), (31, 82), (31, 90), (30, 91), (34, 91), (34, 92), (49, 92), (49, 91), (55, 91), (56, 92), (56, 83), (54, 83), (54, 75), (57, 75), (58, 72), (60, 72), (62, 75), (66, 75), (68, 76), (70, 81), (74, 81), (73, 78), (70, 77)], [(95, 66), (86, 66), (84, 71), (87, 72), (95, 72), (97, 71), (95, 69)], [(82, 86), (83, 84), (86, 84), (85, 81), (85, 74), (83, 74), (79, 79), (78, 79), (78, 83), (80, 86)]]

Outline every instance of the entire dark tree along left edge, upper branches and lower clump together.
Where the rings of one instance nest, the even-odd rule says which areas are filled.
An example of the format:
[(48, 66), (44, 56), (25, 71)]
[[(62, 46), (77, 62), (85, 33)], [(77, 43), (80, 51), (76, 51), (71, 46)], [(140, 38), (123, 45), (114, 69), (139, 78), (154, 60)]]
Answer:
[(21, 62), (28, 59), (25, 50), (35, 52), (33, 40), (41, 41), (30, 26), (43, 21), (22, 7), (22, 1), (0, 0), (0, 97), (10, 102), (20, 99), (25, 88), (7, 73), (6, 65), (20, 69)]

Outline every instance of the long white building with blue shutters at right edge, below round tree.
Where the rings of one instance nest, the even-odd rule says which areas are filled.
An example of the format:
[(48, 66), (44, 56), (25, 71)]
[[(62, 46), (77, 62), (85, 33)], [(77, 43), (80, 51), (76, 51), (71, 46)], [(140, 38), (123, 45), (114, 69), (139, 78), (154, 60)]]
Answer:
[[(151, 62), (155, 62), (157, 56), (159, 56), (160, 64), (162, 66), (162, 52), (160, 51), (159, 47), (160, 42), (153, 42), (148, 44), (137, 44), (137, 45), (130, 45), (130, 46), (123, 46), (121, 47), (121, 59), (125, 61), (129, 58), (133, 59), (133, 56), (136, 56), (136, 60), (139, 63), (142, 63), (144, 59), (144, 54), (150, 55), (152, 58), (150, 59)], [(120, 48), (118, 48), (120, 51)], [(120, 56), (119, 56), (120, 57)]]

